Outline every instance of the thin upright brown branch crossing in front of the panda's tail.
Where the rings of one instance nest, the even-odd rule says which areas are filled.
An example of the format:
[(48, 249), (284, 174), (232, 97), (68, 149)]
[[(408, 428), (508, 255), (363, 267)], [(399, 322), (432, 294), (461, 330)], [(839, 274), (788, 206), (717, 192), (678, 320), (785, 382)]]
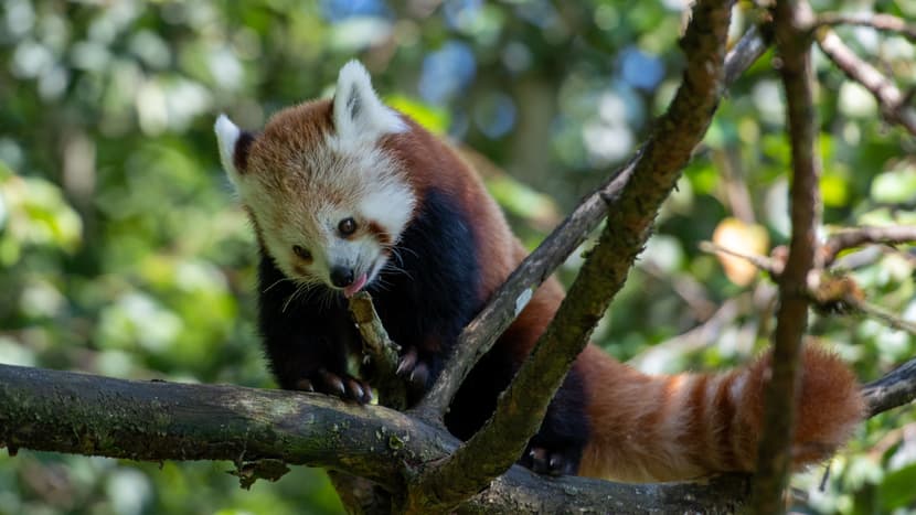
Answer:
[(820, 163), (812, 98), (811, 42), (813, 12), (807, 2), (777, 0), (776, 47), (782, 60), (792, 152), (792, 236), (786, 268), (779, 277), (779, 309), (771, 378), (766, 385), (764, 427), (752, 485), (752, 513), (780, 513), (791, 465), (791, 441), (798, 391), (798, 362), (808, 328), (808, 275), (814, 267), (820, 223)]

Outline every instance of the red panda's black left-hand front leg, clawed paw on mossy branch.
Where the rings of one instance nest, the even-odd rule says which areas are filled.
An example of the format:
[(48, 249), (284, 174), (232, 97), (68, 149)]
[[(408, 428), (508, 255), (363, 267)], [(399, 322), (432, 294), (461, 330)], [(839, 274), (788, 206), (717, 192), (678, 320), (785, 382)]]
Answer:
[(366, 383), (347, 372), (359, 335), (345, 305), (323, 291), (298, 292), (264, 255), (258, 269), (258, 326), (274, 376), (284, 389), (316, 390), (360, 404)]

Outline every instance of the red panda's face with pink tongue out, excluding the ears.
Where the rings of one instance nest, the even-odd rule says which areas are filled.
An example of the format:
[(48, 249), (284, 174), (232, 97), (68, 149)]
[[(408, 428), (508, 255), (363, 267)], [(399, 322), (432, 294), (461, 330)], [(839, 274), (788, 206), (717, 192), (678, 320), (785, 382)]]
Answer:
[(280, 270), (300, 283), (352, 294), (377, 278), (413, 212), (414, 195), (391, 159), (352, 155), (326, 141), (310, 158), (266, 167), (253, 147), (238, 193)]

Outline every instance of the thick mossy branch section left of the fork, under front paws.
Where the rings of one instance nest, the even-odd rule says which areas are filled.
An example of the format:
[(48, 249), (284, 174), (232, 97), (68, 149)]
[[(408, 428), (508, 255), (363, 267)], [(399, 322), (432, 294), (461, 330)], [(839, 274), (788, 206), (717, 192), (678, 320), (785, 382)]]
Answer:
[[(0, 365), (0, 442), (131, 460), (281, 460), (388, 489), (457, 447), (397, 411), (321, 394), (136, 382)], [(423, 446), (405, 446), (420, 441)]]

